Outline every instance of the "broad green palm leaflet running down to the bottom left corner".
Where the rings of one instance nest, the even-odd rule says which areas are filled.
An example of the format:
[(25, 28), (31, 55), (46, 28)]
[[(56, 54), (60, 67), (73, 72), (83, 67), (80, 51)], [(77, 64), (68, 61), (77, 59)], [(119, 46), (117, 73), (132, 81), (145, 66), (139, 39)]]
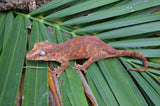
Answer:
[(0, 105), (14, 105), (16, 100), (27, 43), (27, 32), (21, 16), (16, 17), (8, 36), (0, 59), (0, 74), (2, 75), (0, 77)]

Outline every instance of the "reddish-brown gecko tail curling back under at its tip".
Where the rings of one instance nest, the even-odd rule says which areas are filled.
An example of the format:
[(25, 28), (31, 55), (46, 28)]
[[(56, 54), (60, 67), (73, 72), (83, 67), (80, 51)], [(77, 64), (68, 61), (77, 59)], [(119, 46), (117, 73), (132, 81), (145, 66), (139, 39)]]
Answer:
[(134, 52), (134, 51), (128, 51), (128, 50), (118, 50), (117, 52), (118, 56), (131, 56), (131, 57), (136, 57), (139, 58), (142, 62), (144, 67), (141, 69), (137, 68), (130, 68), (128, 70), (133, 70), (133, 71), (145, 71), (148, 68), (148, 62), (147, 59), (140, 53)]

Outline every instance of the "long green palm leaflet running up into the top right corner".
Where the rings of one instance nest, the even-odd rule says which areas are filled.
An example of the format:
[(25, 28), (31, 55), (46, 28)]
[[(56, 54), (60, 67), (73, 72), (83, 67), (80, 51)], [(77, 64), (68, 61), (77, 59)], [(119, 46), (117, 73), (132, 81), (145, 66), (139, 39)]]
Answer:
[[(159, 0), (153, 0), (153, 1), (147, 1), (147, 2), (145, 2), (143, 0), (142, 1), (135, 1), (135, 2), (130, 1), (126, 4), (121, 5), (121, 6), (113, 6), (107, 10), (104, 9), (101, 11), (96, 11), (96, 12), (89, 14), (88, 16), (83, 16), (83, 17), (79, 17), (76, 19), (72, 19), (72, 20), (63, 22), (61, 25), (77, 25), (77, 24), (93, 22), (93, 21), (97, 21), (97, 20), (101, 20), (101, 19), (107, 19), (107, 18), (111, 18), (111, 17), (115, 17), (115, 16), (120, 16), (120, 15), (124, 15), (127, 13), (131, 13), (131, 12), (143, 10), (146, 8), (158, 6), (158, 5), (160, 5), (160, 3), (158, 1)], [(49, 17), (47, 19), (53, 19), (53, 18), (56, 18), (56, 17)]]

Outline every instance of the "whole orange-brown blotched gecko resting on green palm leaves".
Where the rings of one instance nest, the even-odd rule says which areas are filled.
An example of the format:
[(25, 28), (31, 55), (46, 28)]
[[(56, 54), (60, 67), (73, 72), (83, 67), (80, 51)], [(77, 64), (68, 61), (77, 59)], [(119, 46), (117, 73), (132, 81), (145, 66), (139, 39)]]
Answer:
[(144, 68), (131, 68), (129, 70), (145, 71), (148, 67), (147, 60), (142, 54), (133, 51), (116, 50), (96, 36), (76, 37), (61, 44), (53, 44), (48, 40), (37, 42), (26, 58), (28, 60), (57, 61), (61, 63), (60, 67), (54, 69), (54, 75), (57, 74), (59, 76), (68, 66), (69, 60), (88, 59), (83, 65), (75, 64), (75, 67), (73, 67), (87, 73), (86, 68), (93, 62), (119, 56), (133, 56), (142, 60)]

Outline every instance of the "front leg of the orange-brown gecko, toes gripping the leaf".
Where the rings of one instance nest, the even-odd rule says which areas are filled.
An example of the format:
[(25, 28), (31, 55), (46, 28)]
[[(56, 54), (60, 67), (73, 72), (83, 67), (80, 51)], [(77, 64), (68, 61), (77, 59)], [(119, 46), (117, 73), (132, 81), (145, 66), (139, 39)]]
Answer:
[(69, 61), (61, 61), (61, 66), (57, 67), (57, 68), (54, 68), (54, 71), (52, 71), (52, 75), (57, 75), (57, 77), (59, 78), (59, 75), (66, 69), (66, 67), (68, 66), (69, 64)]

